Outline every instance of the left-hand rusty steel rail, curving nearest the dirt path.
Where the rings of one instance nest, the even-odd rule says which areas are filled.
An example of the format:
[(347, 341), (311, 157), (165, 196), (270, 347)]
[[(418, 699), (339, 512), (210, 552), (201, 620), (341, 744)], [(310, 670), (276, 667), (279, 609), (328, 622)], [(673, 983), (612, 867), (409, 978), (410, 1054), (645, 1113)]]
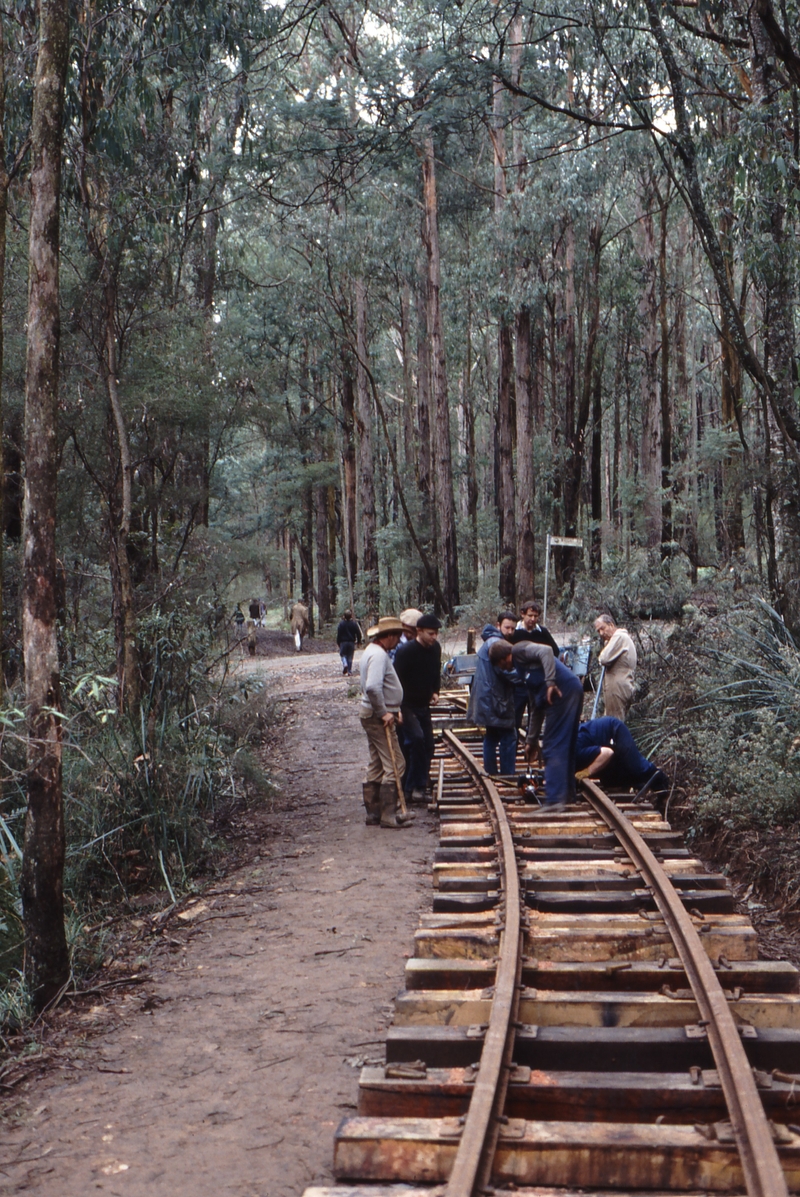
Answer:
[(504, 926), (495, 972), (495, 998), (480, 1053), (469, 1110), (467, 1111), (459, 1150), (446, 1189), (446, 1197), (474, 1197), (486, 1189), (491, 1178), (499, 1118), (505, 1105), (515, 1022), (520, 1003), (522, 970), (522, 919), (520, 879), (516, 869), (514, 838), (503, 802), (491, 778), (473, 754), (450, 730), (442, 739), (467, 766), (486, 796), (486, 804), (497, 837), (497, 856), (504, 898)]

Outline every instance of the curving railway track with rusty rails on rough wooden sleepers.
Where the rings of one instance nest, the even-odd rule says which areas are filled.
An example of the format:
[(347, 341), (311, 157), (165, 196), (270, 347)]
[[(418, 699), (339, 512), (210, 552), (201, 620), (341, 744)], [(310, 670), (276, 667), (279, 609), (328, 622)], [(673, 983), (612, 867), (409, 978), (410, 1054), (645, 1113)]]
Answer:
[(432, 911), (305, 1197), (800, 1191), (794, 966), (651, 806), (583, 782), (533, 819), (438, 722)]

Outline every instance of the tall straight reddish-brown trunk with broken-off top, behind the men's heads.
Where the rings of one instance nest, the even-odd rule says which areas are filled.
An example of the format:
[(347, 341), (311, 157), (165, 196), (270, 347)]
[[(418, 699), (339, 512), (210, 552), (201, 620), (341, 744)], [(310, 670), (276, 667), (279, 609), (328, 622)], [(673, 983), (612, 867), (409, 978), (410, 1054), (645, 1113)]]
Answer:
[(428, 329), (431, 342), (434, 391), (434, 454), (437, 482), (438, 555), (442, 564), (442, 595), (446, 614), (459, 606), (459, 546), (455, 530), (455, 496), (453, 491), (453, 455), (450, 446), (450, 406), (447, 391), (444, 330), (442, 327), (442, 271), (438, 244), (438, 203), (436, 199), (436, 164), (432, 138), (425, 139), (423, 162), (425, 230), (428, 250)]

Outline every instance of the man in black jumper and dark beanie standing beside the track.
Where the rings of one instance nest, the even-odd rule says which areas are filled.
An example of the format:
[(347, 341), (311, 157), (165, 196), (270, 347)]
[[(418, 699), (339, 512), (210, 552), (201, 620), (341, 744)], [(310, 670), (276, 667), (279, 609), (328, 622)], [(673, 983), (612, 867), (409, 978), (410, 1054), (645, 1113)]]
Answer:
[(430, 767), (436, 752), (430, 709), (438, 703), (442, 682), (441, 627), (436, 615), (420, 615), (417, 636), (399, 645), (394, 658), (402, 686), (402, 739), (407, 761), (404, 790), (411, 802), (426, 802), (430, 797)]

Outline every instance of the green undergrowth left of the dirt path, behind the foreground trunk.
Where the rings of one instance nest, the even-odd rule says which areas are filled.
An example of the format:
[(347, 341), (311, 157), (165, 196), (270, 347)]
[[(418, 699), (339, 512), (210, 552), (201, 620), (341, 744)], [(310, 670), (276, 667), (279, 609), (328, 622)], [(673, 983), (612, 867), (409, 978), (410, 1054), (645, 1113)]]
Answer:
[[(137, 718), (116, 710), (108, 633), (96, 633), (83, 650), (71, 645), (62, 673), (65, 899), (73, 960), (80, 958), (83, 971), (98, 952), (96, 937), (81, 936), (87, 919), (153, 888), (174, 900), (213, 865), (232, 813), (271, 792), (255, 753), (274, 716), (263, 687), (230, 680), (224, 645), (188, 604), (149, 613), (139, 634), (147, 685)], [(19, 707), (0, 712), (0, 741), (1, 980), (22, 964)]]

